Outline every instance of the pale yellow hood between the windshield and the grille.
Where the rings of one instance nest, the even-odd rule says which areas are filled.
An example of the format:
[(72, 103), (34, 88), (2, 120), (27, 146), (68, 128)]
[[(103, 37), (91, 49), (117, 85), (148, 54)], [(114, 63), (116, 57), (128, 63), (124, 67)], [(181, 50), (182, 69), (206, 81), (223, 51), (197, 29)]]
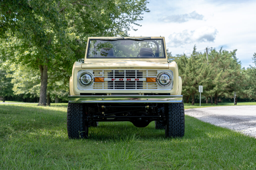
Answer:
[(87, 68), (169, 68), (169, 64), (152, 61), (132, 61), (132, 60), (115, 60), (100, 62), (85, 62), (82, 69)]

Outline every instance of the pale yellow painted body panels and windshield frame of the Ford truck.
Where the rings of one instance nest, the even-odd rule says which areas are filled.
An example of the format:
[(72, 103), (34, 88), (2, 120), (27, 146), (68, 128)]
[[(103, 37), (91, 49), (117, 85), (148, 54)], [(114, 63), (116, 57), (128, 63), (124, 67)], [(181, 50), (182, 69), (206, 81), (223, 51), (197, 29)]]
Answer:
[[(117, 37), (88, 37), (86, 55), (88, 50), (89, 39), (101, 39), (101, 38), (117, 38)], [(143, 38), (143, 37), (124, 37), (124, 38)], [(151, 37), (162, 38), (164, 41), (165, 56), (166, 46), (164, 37)], [(79, 90), (77, 87), (77, 73), (80, 70), (95, 70), (95, 69), (125, 69), (125, 70), (171, 70), (173, 72), (173, 88), (171, 90), (104, 90), (104, 93), (170, 93), (170, 95), (180, 95), (182, 80), (178, 75), (178, 67), (175, 61), (168, 63), (166, 58), (84, 58), (84, 63), (74, 62), (72, 69), (72, 76), (70, 77), (70, 95), (80, 95), (80, 93), (102, 93), (97, 89), (94, 90)]]

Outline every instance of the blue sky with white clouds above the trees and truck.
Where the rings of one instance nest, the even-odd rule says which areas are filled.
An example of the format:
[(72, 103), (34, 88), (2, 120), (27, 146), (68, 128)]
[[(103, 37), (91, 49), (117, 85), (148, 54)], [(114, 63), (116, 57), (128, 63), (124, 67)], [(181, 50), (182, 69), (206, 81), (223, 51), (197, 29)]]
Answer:
[(189, 55), (194, 45), (202, 53), (206, 47), (237, 49), (242, 67), (255, 66), (256, 1), (149, 0), (147, 8), (130, 36), (164, 36), (173, 55)]

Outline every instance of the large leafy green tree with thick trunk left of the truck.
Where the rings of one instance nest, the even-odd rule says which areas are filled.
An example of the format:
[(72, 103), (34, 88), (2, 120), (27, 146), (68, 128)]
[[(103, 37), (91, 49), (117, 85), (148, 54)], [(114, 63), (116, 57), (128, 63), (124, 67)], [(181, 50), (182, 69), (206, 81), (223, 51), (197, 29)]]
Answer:
[(87, 37), (127, 35), (131, 25), (142, 20), (142, 12), (149, 11), (147, 3), (146, 0), (1, 1), (1, 57), (40, 70), (39, 105), (46, 105), (48, 71), (58, 73), (57, 80), (68, 82), (69, 77), (61, 76), (62, 72), (70, 75), (70, 63), (84, 56)]

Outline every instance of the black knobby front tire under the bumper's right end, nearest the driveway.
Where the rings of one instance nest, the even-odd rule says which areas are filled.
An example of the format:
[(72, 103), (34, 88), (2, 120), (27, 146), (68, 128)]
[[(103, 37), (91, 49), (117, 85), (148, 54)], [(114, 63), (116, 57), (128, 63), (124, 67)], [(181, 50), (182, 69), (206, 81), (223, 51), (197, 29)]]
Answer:
[(185, 113), (183, 100), (181, 103), (168, 103), (166, 104), (165, 109), (165, 136), (183, 137), (185, 130)]

